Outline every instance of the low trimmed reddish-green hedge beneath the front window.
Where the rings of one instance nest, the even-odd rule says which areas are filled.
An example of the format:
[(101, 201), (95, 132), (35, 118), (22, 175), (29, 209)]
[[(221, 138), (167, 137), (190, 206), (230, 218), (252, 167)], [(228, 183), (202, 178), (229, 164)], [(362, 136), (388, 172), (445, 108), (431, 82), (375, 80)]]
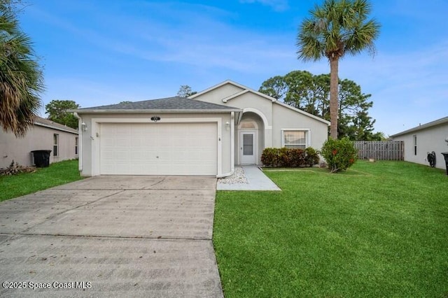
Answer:
[(261, 162), (265, 166), (314, 166), (318, 164), (318, 151), (313, 148), (305, 150), (298, 148), (265, 148), (261, 155)]

